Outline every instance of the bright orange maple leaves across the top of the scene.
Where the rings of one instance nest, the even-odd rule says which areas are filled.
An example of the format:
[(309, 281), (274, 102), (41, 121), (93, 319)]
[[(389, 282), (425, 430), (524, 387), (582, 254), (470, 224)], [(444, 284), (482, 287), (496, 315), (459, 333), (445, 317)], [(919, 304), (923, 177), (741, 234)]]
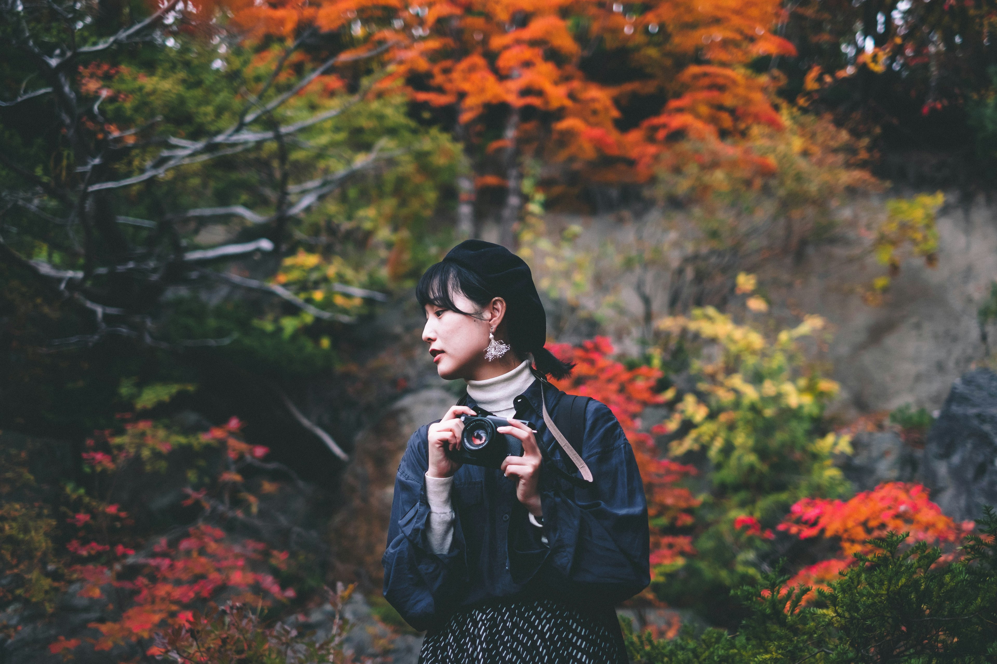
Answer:
[[(413, 100), (452, 108), (470, 143), (503, 121), (490, 111), (528, 110), (515, 129), (517, 144), (595, 179), (646, 180), (676, 137), (719, 142), (743, 137), (754, 124), (781, 126), (773, 106), (780, 81), (748, 66), (795, 54), (773, 32), (785, 20), (778, 0), (224, 6), (232, 25), (254, 38), (292, 39), (317, 28), (339, 33), (348, 49), (389, 42), (395, 66), (383, 88), (401, 81)], [(661, 100), (660, 111), (631, 129), (618, 126), (627, 105), (652, 98)]]

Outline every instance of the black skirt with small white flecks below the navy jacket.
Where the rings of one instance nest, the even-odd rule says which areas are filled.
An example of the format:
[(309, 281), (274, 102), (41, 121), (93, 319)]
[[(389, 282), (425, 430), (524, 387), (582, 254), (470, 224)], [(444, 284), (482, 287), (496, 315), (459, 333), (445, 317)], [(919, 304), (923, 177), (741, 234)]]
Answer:
[(616, 612), (554, 599), (506, 599), (462, 609), (423, 640), (419, 664), (627, 664)]

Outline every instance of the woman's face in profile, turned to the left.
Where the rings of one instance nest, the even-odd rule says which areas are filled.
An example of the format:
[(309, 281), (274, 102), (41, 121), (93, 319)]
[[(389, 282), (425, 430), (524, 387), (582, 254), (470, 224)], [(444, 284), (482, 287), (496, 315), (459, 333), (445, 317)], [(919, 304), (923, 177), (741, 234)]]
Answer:
[(494, 373), (498, 366), (490, 366), (495, 363), (485, 359), (485, 347), (489, 344), (489, 332), (493, 326), (496, 327), (496, 338), (500, 338), (498, 325), (505, 311), (505, 302), (496, 298), (483, 309), (462, 293), (454, 293), (453, 300), (461, 311), (481, 311), (482, 318), (441, 309), (432, 304), (426, 305), (423, 340), (430, 344), (429, 351), (437, 366), (437, 373), (445, 380), (481, 380), (491, 377), (488, 374)]

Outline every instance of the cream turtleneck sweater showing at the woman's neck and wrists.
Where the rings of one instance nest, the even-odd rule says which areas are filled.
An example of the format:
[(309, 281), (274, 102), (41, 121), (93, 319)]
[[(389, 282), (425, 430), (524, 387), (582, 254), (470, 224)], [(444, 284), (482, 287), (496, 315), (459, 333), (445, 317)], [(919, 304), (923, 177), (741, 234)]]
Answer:
[[(494, 378), (485, 380), (468, 380), (468, 395), (491, 413), (499, 417), (511, 417), (515, 414), (512, 399), (526, 391), (536, 378), (529, 370), (532, 357), (527, 357), (511, 371), (506, 371)], [(430, 515), (427, 518), (427, 535), (433, 553), (447, 553), (454, 540), (454, 509), (451, 505), (450, 491), (454, 486), (454, 478), (430, 477), (426, 472), (426, 495), (430, 503)], [(542, 524), (529, 515), (529, 523), (537, 528)], [(540, 536), (540, 542), (547, 544), (545, 536)]]

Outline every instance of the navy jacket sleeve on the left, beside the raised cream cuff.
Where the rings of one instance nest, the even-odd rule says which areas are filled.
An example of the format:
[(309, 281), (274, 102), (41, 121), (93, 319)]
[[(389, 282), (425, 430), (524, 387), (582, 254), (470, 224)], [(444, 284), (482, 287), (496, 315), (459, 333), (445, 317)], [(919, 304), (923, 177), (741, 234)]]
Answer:
[(467, 582), (467, 548), (459, 516), (455, 515), (450, 550), (433, 553), (429, 542), (430, 504), (426, 489), (429, 426), (409, 439), (395, 477), (395, 495), (388, 525), (384, 565), (384, 596), (414, 629), (428, 629), (451, 609), (452, 598)]

